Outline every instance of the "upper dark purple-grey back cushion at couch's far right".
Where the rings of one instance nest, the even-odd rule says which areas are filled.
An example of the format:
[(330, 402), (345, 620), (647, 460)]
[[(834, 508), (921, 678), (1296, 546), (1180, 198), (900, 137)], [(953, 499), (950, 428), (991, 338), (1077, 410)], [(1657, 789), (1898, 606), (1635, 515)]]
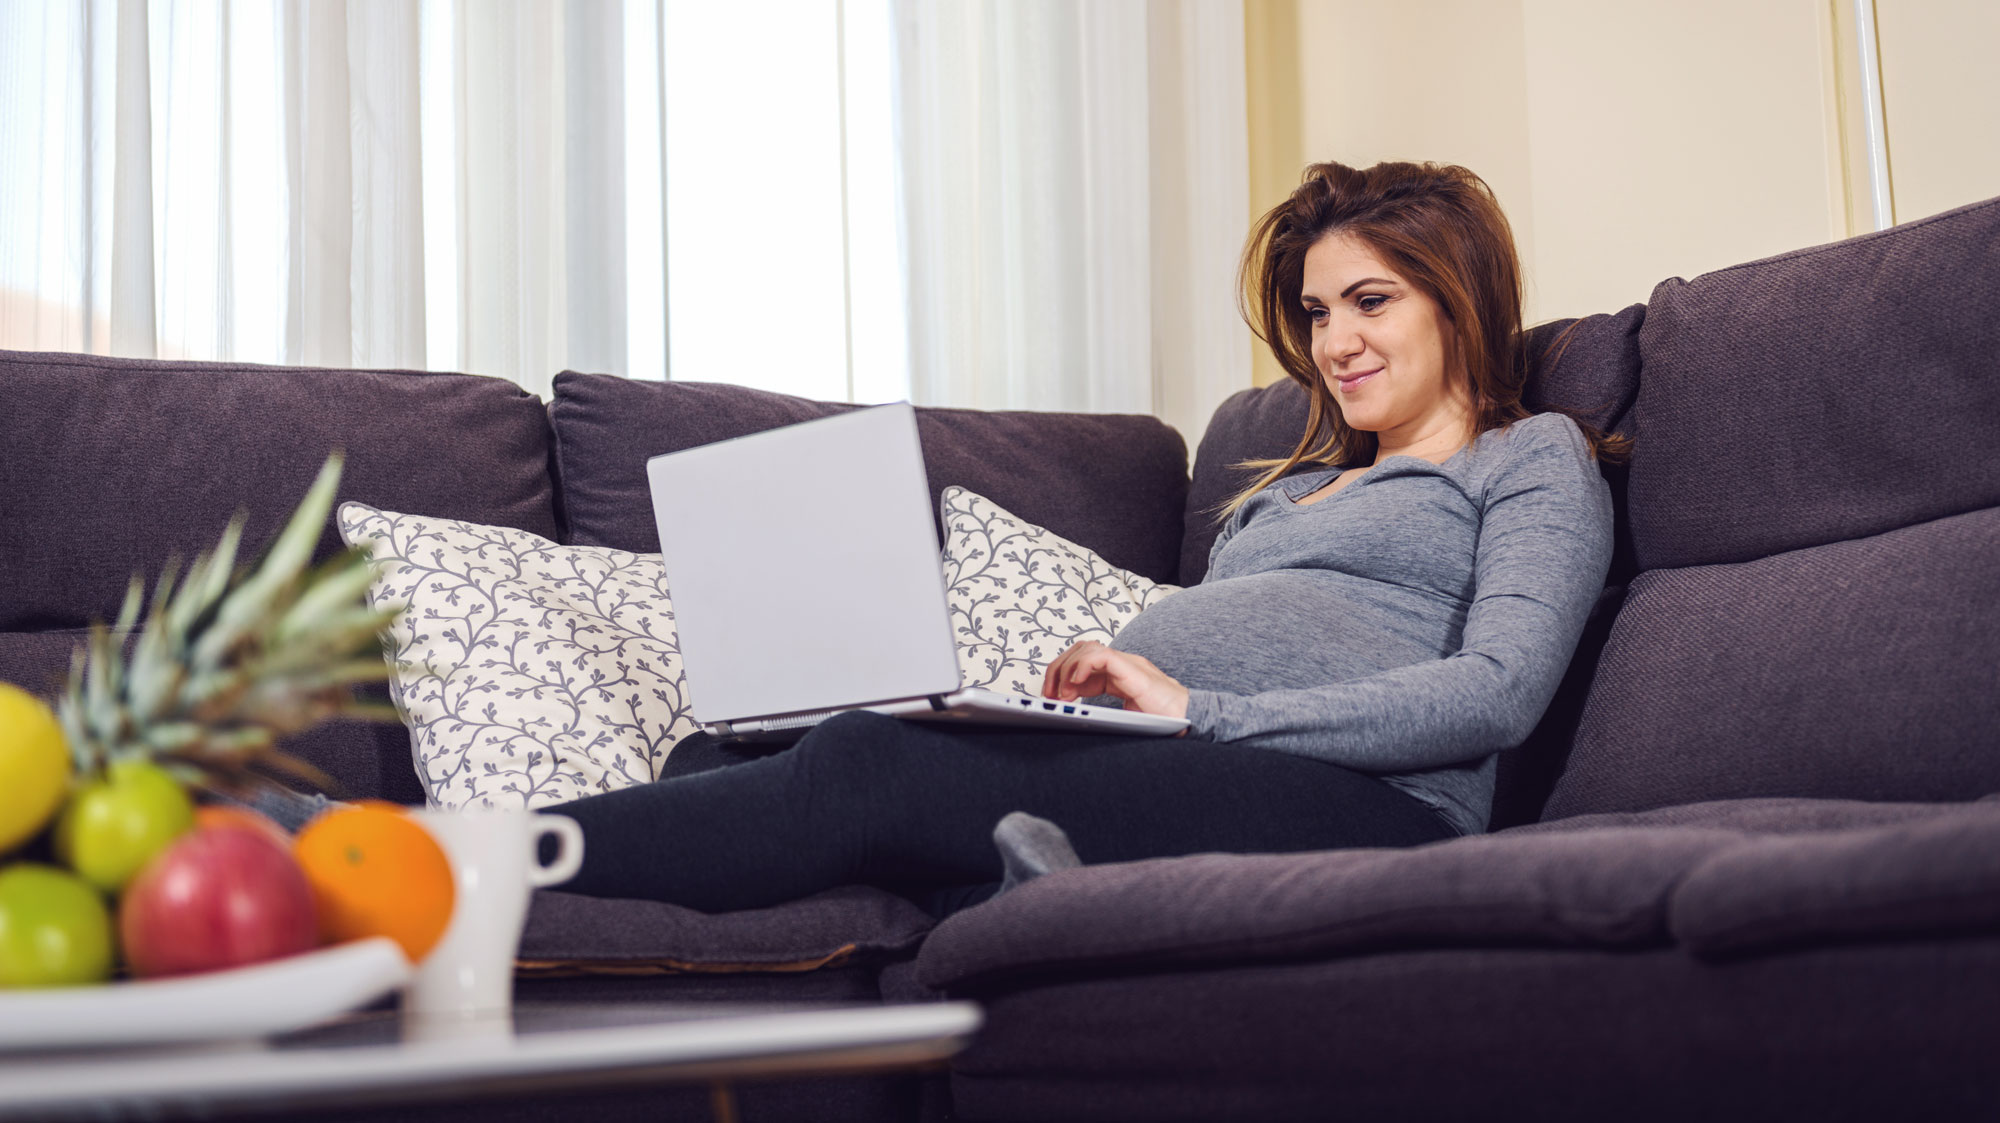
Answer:
[(1652, 292), (1640, 565), (1748, 562), (2000, 504), (2000, 200)]

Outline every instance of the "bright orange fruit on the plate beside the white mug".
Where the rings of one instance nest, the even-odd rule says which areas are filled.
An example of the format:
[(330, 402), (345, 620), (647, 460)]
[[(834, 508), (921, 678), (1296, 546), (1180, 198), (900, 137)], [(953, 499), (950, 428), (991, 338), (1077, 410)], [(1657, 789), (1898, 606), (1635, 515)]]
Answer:
[(304, 825), (292, 855), (312, 883), (320, 939), (386, 935), (418, 963), (452, 923), (452, 863), (402, 807), (364, 801)]

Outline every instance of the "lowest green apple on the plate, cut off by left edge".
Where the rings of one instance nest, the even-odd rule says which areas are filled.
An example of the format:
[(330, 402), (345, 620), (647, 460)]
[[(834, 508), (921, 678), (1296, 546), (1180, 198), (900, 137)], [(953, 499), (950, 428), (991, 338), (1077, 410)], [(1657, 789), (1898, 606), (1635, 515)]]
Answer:
[(0, 987), (72, 987), (112, 973), (112, 915), (74, 873), (16, 861), (0, 869)]

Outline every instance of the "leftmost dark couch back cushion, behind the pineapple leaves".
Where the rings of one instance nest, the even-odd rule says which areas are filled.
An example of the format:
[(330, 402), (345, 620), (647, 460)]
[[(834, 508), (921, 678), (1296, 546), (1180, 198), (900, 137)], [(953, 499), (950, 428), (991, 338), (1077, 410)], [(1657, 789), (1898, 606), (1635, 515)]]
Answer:
[(0, 352), (0, 631), (114, 617), (238, 508), (254, 556), (334, 448), (344, 500), (556, 530), (542, 404), (498, 378)]

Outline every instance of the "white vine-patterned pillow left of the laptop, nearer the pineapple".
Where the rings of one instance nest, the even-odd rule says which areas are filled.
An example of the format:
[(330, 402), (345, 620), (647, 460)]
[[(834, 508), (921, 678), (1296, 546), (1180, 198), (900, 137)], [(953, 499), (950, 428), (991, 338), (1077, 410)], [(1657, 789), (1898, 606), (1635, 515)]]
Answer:
[(382, 565), (390, 695), (438, 807), (546, 807), (660, 775), (696, 729), (658, 554), (340, 506)]

